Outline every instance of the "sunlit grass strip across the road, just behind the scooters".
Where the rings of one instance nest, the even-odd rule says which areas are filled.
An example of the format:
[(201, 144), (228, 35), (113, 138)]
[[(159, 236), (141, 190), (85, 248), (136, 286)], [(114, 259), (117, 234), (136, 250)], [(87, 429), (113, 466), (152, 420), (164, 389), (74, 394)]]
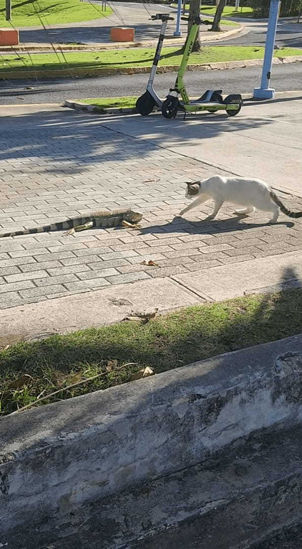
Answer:
[[(60, 70), (67, 69), (113, 69), (126, 67), (151, 66), (154, 49), (130, 48), (115, 49), (101, 52), (74, 52), (61, 53), (36, 53), (30, 56), (26, 53), (18, 57), (0, 56), (1, 70)], [(264, 55), (263, 47), (256, 46), (204, 46), (201, 52), (191, 53), (190, 64), (215, 63), (217, 61), (236, 61), (242, 59), (261, 59)], [(276, 57), (287, 55), (302, 55), (302, 49), (283, 48), (275, 52)], [(159, 66), (180, 64), (181, 49), (177, 47), (164, 48), (164, 53), (159, 61)], [(66, 62), (65, 62), (66, 60)], [(33, 64), (32, 64), (33, 63)], [(66, 64), (67, 63), (67, 64)]]

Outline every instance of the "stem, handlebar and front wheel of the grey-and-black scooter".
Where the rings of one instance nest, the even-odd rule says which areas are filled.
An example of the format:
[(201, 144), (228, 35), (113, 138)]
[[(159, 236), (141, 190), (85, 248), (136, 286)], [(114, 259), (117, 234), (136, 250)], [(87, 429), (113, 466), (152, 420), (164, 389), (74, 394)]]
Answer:
[(159, 109), (162, 108), (162, 104), (163, 104), (162, 99), (159, 99), (155, 89), (153, 88), (153, 82), (154, 82), (156, 71), (157, 71), (158, 60), (159, 60), (159, 57), (161, 56), (167, 24), (169, 20), (173, 20), (174, 18), (170, 17), (168, 13), (157, 13), (156, 15), (151, 15), (151, 19), (153, 20), (160, 19), (162, 21), (162, 26), (161, 26), (161, 33), (159, 34), (159, 38), (157, 42), (155, 56), (153, 59), (152, 69), (151, 69), (149, 80), (147, 83), (147, 89), (145, 93), (138, 98), (135, 105), (135, 108), (138, 111), (138, 113), (143, 116), (150, 114), (153, 108), (155, 107), (155, 105), (157, 105)]

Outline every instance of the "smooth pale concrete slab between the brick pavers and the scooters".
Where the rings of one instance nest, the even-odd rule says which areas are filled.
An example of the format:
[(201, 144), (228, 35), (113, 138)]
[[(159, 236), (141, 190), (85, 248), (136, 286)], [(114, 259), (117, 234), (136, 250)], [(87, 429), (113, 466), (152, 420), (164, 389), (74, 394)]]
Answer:
[(140, 116), (107, 120), (112, 130), (302, 195), (302, 91), (277, 93), (273, 101), (246, 100), (235, 117), (205, 113), (183, 122), (180, 113), (168, 121), (153, 115), (147, 124)]

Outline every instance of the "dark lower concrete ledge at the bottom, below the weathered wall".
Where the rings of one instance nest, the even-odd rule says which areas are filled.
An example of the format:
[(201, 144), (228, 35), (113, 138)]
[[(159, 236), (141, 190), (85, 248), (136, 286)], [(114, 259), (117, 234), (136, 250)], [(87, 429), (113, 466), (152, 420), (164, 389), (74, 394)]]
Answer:
[[(10, 544), (18, 540), (22, 549), (45, 548), (45, 540), (53, 540), (54, 531), (55, 545), (48, 545), (49, 549), (78, 549), (79, 539), (81, 549), (201, 549), (200, 544), (188, 543), (196, 538), (197, 544), (203, 540), (203, 549), (221, 549), (221, 525), (227, 525), (223, 528), (224, 548), (238, 547), (238, 539), (241, 547), (255, 549), (256, 543), (259, 549), (261, 539), (261, 547), (265, 542), (270, 544), (265, 547), (281, 548), (280, 542), (290, 539), (294, 545), (287, 548), (297, 549), (298, 537), (301, 539), (300, 447), (300, 426), (254, 433), (248, 441), (235, 441), (219, 451), (208, 463), (130, 487), (109, 500), (79, 507), (68, 517), (62, 509), (60, 527), (51, 517), (43, 529), (40, 520), (21, 531), (13, 528), (5, 537)], [(113, 521), (116, 516), (121, 519)], [(240, 530), (238, 517), (249, 527)], [(265, 517), (260, 526), (259, 517)], [(110, 527), (100, 533), (100, 522)]]

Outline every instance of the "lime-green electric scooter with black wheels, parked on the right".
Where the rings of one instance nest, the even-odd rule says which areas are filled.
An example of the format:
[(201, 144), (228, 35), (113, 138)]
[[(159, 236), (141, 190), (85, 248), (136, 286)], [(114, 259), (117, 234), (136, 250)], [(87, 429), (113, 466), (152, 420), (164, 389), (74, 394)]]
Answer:
[[(178, 111), (184, 113), (184, 119), (186, 113), (196, 113), (198, 111), (209, 111), (210, 113), (215, 113), (218, 110), (226, 110), (229, 116), (235, 116), (239, 113), (242, 106), (242, 97), (240, 94), (232, 93), (227, 96), (225, 99), (221, 96), (221, 89), (213, 90), (208, 89), (204, 94), (196, 100), (191, 100), (187, 96), (185, 83), (184, 83), (184, 74), (186, 70), (187, 63), (189, 61), (190, 53), (192, 51), (193, 43), (198, 32), (198, 27), (200, 24), (206, 23), (202, 21), (199, 17), (196, 17), (189, 35), (187, 35), (183, 58), (178, 70), (178, 75), (175, 81), (175, 87), (170, 88), (167, 99), (164, 100), (162, 104), (162, 115), (165, 118), (175, 118)], [(181, 96), (182, 101), (179, 100)]]

